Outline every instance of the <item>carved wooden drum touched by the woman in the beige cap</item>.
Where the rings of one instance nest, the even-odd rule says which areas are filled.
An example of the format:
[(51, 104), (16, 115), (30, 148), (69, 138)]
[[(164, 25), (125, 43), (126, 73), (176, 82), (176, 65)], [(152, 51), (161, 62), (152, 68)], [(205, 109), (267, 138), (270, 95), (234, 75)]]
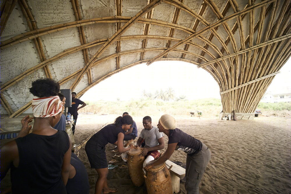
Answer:
[(171, 175), (166, 163), (148, 169), (145, 175), (145, 184), (148, 194), (172, 194)]

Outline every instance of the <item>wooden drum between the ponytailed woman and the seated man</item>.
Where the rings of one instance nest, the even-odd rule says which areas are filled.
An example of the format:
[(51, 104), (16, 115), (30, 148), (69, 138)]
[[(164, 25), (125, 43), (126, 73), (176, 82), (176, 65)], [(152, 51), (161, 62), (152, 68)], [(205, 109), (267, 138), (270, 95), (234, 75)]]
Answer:
[(134, 186), (141, 186), (145, 182), (143, 173), (143, 162), (145, 157), (141, 156), (141, 148), (133, 148), (127, 152), (127, 164), (129, 175)]

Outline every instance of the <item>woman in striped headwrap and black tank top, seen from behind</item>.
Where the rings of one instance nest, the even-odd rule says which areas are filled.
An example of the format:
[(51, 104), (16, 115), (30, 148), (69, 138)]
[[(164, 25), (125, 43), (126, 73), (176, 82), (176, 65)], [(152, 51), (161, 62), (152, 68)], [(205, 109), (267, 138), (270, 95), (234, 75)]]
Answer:
[(26, 116), (17, 139), (1, 148), (1, 179), (10, 168), (12, 193), (66, 193), (71, 141), (65, 131), (52, 128), (63, 112), (59, 89), (51, 79), (32, 82), (32, 132), (33, 117)]

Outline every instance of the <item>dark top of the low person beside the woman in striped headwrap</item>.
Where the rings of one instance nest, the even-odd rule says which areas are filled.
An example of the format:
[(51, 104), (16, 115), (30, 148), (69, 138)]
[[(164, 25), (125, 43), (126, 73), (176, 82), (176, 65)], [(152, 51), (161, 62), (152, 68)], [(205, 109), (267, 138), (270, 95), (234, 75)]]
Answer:
[(70, 164), (76, 169), (76, 175), (68, 179), (66, 185), (68, 194), (89, 194), (90, 186), (87, 170), (82, 161), (74, 154), (71, 155)]

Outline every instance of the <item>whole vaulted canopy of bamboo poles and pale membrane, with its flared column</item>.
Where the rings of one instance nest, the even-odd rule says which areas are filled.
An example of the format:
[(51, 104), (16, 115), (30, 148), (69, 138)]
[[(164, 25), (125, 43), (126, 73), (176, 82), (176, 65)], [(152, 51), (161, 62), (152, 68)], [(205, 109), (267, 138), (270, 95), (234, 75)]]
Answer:
[(253, 113), (291, 55), (291, 0), (3, 0), (1, 113), (31, 112), (33, 80), (83, 95), (137, 64), (178, 60)]

